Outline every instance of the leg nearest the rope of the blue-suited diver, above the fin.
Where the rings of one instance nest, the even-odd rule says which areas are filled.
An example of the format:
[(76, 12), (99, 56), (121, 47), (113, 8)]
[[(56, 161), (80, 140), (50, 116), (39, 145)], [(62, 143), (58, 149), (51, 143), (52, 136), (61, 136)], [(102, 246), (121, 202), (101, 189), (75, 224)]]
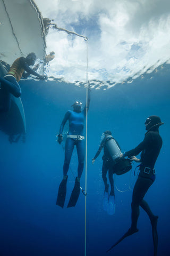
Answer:
[(81, 174), (83, 172), (84, 167), (84, 157), (85, 157), (85, 150), (84, 150), (84, 140), (77, 141), (77, 153), (78, 153), (78, 180), (80, 181)]

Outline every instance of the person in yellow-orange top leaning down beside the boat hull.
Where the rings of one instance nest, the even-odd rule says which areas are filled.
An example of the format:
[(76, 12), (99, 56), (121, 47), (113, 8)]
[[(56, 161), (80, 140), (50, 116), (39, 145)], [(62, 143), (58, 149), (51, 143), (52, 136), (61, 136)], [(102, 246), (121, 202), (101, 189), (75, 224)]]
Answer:
[[(27, 78), (30, 74), (37, 76), (39, 79), (46, 79), (46, 76), (39, 75), (29, 66), (33, 66), (36, 61), (36, 54), (31, 52), (26, 58), (20, 57), (16, 59), (8, 73), (4, 78), (0, 77), (1, 93), (0, 93), (0, 112), (6, 112), (10, 109), (11, 94), (19, 98), (21, 96), (21, 88), (19, 81), (21, 77)], [(25, 73), (27, 71), (27, 73)]]

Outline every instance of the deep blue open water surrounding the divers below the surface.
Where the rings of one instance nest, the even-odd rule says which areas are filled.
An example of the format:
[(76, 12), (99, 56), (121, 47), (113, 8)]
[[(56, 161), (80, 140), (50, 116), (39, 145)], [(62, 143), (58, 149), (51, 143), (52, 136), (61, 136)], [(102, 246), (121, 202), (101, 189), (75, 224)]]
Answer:
[[(115, 191), (114, 215), (103, 210), (104, 183), (101, 178), (102, 155), (94, 157), (105, 130), (111, 130), (122, 151), (138, 145), (145, 134), (145, 119), (158, 115), (165, 124), (160, 127), (163, 148), (156, 163), (156, 181), (146, 201), (158, 219), (158, 254), (170, 255), (169, 249), (169, 81), (170, 67), (164, 65), (130, 84), (91, 91), (88, 113), (87, 161), (87, 255), (153, 255), (151, 225), (141, 209), (139, 232), (126, 238), (111, 252), (106, 250), (128, 230), (131, 224), (132, 190)], [(86, 89), (55, 81), (21, 81), (22, 102), (27, 123), (26, 143), (10, 143), (0, 134), (0, 254), (2, 256), (84, 255), (84, 195), (75, 207), (66, 208), (74, 186), (69, 171), (64, 209), (56, 206), (58, 186), (63, 177), (64, 153), (56, 134), (64, 114), (75, 100), (85, 103)], [(85, 131), (84, 131), (85, 132)], [(77, 174), (74, 151), (71, 168)], [(133, 171), (116, 177), (122, 190), (133, 184)], [(85, 172), (81, 178), (85, 186)]]

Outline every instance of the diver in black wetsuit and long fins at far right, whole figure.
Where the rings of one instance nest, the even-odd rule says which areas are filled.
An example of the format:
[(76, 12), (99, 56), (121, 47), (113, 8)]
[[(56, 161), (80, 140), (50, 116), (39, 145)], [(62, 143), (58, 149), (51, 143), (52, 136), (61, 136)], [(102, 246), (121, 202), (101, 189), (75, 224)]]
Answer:
[[(152, 226), (152, 237), (154, 242), (154, 256), (157, 255), (158, 234), (157, 234), (157, 221), (158, 216), (152, 213), (148, 203), (143, 199), (149, 187), (155, 181), (155, 163), (162, 148), (163, 140), (159, 135), (159, 126), (164, 123), (161, 122), (158, 116), (149, 116), (145, 121), (146, 134), (144, 140), (134, 149), (125, 152), (121, 155), (122, 158), (131, 157), (131, 161), (140, 163), (138, 179), (135, 182), (131, 203), (131, 227), (130, 229), (108, 250), (110, 251), (115, 245), (120, 243), (125, 237), (128, 237), (139, 230), (137, 222), (139, 218), (139, 206), (148, 214)], [(141, 152), (142, 151), (142, 152)], [(137, 156), (141, 152), (141, 158)], [(107, 252), (108, 252), (107, 251)]]

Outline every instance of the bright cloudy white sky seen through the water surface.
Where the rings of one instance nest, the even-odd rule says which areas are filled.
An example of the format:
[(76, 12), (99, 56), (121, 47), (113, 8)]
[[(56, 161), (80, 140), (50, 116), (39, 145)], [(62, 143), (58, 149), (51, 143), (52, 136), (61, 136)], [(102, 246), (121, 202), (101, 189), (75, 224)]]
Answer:
[[(88, 78), (108, 87), (151, 73), (169, 63), (169, 1), (36, 0), (44, 18), (87, 36)], [(50, 29), (47, 53), (55, 52), (48, 76), (86, 82), (87, 45), (83, 38)], [(109, 82), (108, 82), (109, 81)]]

